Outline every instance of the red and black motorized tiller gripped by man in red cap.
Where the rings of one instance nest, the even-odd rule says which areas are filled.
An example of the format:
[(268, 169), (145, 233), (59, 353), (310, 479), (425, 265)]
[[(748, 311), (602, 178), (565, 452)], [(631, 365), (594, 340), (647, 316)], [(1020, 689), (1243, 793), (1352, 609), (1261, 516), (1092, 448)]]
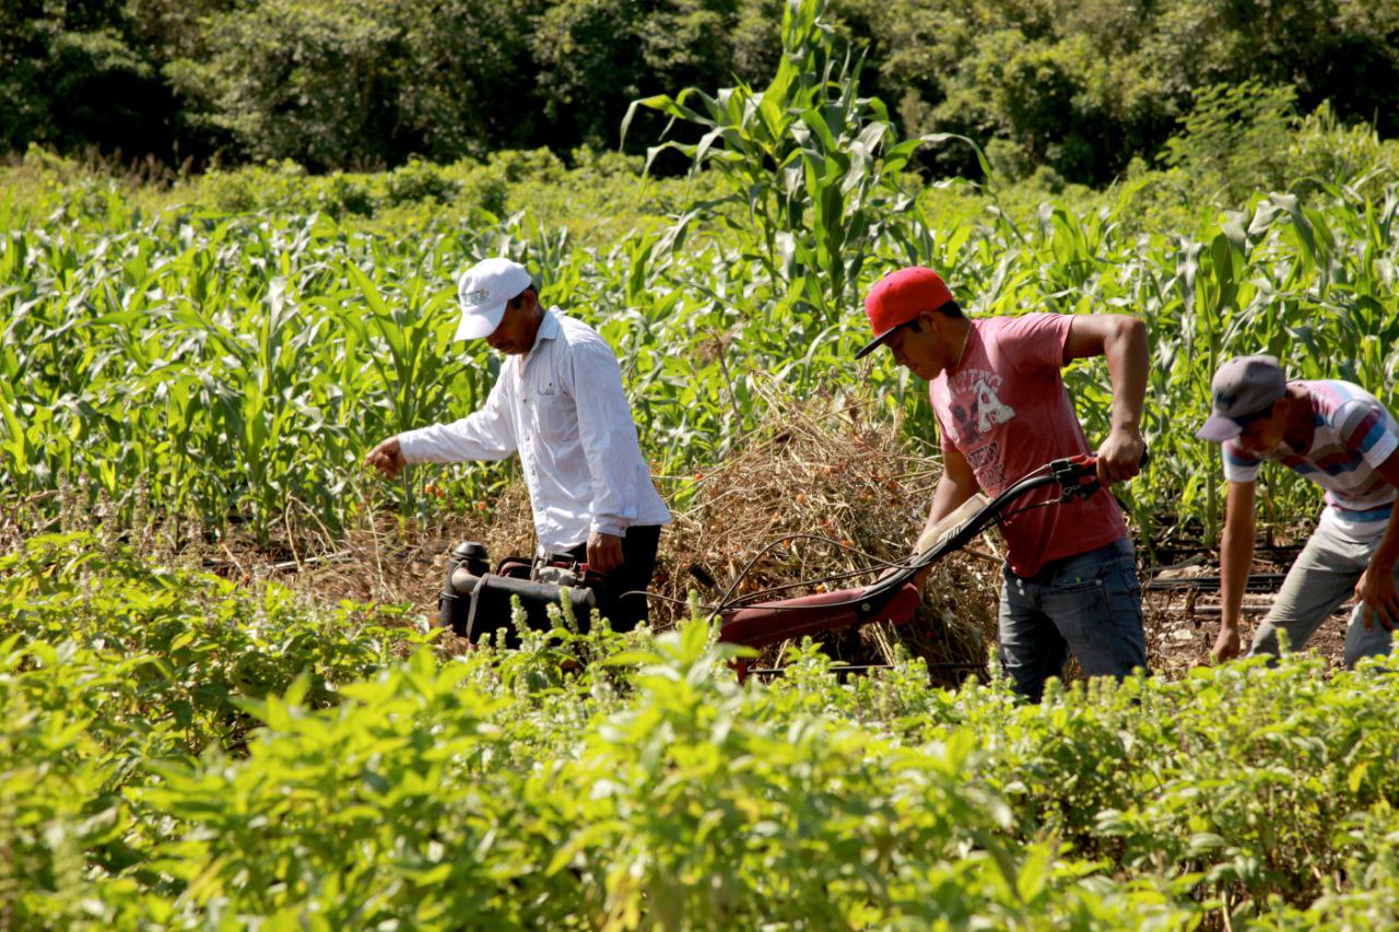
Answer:
[[(1041, 466), (956, 523), (926, 550), (915, 553), (904, 563), (883, 567), (886, 575), (867, 586), (774, 602), (755, 600), (813, 585), (807, 581), (732, 599), (733, 591), (747, 574), (744, 568), (719, 603), (711, 606), (711, 617), (718, 616), (720, 620), (719, 640), (761, 649), (821, 631), (856, 628), (874, 621), (905, 624), (922, 602), (918, 588), (911, 582), (921, 570), (965, 547), (989, 525), (1009, 516), (1004, 514), (1006, 508), (1037, 488), (1059, 486), (1059, 497), (1017, 511), (1093, 495), (1100, 490), (1097, 462), (1091, 453), (1081, 453)], [(1142, 465), (1146, 466), (1146, 455), (1142, 458)], [(797, 537), (814, 537), (814, 535), (796, 535), (790, 539)], [(769, 547), (778, 543), (781, 540)], [(754, 563), (757, 557), (748, 563), (748, 568)], [(874, 567), (834, 578), (865, 575), (879, 570), (880, 567)], [(511, 599), (519, 598), (530, 628), (548, 630), (553, 624), (548, 619), (548, 606), (567, 602), (579, 630), (586, 631), (590, 612), (596, 607), (592, 586), (597, 579), (596, 574), (588, 571), (586, 564), (564, 558), (532, 561), (508, 557), (491, 572), (485, 549), (477, 543), (464, 543), (452, 551), (448, 561), (446, 582), (438, 599), (438, 623), (473, 642), (492, 638), (495, 631), (504, 630), (506, 644), (516, 645), (518, 638), (511, 623)], [(739, 661), (736, 669), (740, 679), (757, 672), (748, 669), (747, 661)]]

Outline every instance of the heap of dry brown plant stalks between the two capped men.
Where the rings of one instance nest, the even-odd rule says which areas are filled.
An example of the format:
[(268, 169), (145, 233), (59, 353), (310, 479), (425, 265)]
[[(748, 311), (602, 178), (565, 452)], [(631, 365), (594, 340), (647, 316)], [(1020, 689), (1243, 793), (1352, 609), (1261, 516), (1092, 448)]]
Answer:
[[(658, 624), (686, 612), (690, 589), (713, 605), (730, 588), (732, 600), (865, 585), (877, 578), (880, 561), (902, 560), (918, 537), (939, 476), (936, 459), (912, 453), (897, 424), (872, 427), (877, 421), (862, 403), (768, 402), (771, 414), (737, 453), (687, 479), (691, 495), (662, 537)], [(859, 570), (870, 572), (827, 579)], [(827, 581), (760, 595), (817, 579)], [(827, 635), (827, 651), (852, 663), (883, 663), (902, 641), (930, 665), (979, 665), (995, 633), (995, 586), (996, 561), (956, 554), (935, 568), (914, 621), (898, 630), (869, 626), (859, 637)], [(774, 661), (772, 654), (762, 661)], [(940, 679), (970, 673), (935, 669), (946, 673)]]

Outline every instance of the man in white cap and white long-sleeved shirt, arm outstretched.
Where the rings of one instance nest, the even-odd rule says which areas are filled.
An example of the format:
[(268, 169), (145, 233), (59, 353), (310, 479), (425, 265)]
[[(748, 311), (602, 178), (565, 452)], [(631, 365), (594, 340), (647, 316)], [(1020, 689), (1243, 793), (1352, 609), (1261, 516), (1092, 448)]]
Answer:
[(599, 610), (616, 630), (630, 630), (646, 619), (644, 592), (670, 512), (642, 459), (616, 354), (586, 323), (544, 309), (529, 271), (509, 259), (469, 269), (457, 297), (456, 339), (484, 339), (512, 358), (478, 411), (390, 437), (365, 466), (393, 477), (409, 463), (518, 452), (540, 553), (586, 558), (606, 574)]

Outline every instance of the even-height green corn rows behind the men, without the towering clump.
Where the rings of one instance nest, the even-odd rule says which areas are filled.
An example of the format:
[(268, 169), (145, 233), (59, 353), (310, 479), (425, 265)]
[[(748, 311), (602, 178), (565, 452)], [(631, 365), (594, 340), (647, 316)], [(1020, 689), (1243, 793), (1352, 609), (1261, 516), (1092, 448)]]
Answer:
[[(940, 231), (909, 209), (842, 259), (839, 291), (820, 269), (751, 257), (760, 243), (737, 234), (702, 245), (674, 230), (638, 234), (599, 252), (520, 220), (402, 239), (326, 218), (130, 216), (122, 232), (25, 220), (0, 241), (0, 483), (21, 500), (66, 484), (88, 508), (104, 500), (130, 516), (141, 502), (263, 539), (288, 519), (353, 523), (376, 494), (358, 469), (368, 446), (484, 399), (498, 362), (449, 344), (452, 273), (494, 252), (536, 269), (546, 302), (618, 348), (660, 474), (720, 460), (774, 397), (866, 400), (873, 424), (898, 418), (929, 442), (921, 383), (879, 357), (851, 361), (866, 329), (862, 288), (918, 256), (972, 313), (1146, 319), (1144, 432), (1163, 467), (1132, 486), (1130, 505), (1143, 525), (1209, 537), (1217, 451), (1193, 431), (1219, 360), (1269, 351), (1297, 378), (1347, 378), (1393, 400), (1396, 213), (1393, 192), (1315, 206), (1273, 195), (1189, 235), (1125, 238), (1111, 216), (1052, 204), (1032, 230), (992, 218)], [(1104, 435), (1105, 372), (1079, 365), (1067, 381), (1090, 438)], [(498, 479), (449, 484), (470, 497)], [(390, 494), (411, 511), (424, 481)], [(1267, 493), (1274, 523), (1314, 511), (1291, 479)]]

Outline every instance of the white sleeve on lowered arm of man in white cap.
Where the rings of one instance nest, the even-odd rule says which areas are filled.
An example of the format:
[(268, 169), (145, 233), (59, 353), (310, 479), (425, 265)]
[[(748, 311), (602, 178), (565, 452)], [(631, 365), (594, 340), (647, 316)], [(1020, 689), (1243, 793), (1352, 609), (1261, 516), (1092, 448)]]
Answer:
[(639, 494), (635, 463), (641, 458), (637, 423), (621, 385), (617, 357), (604, 343), (585, 343), (571, 354), (569, 393), (578, 404), (578, 439), (592, 479), (592, 530), (627, 533), (637, 521)]

